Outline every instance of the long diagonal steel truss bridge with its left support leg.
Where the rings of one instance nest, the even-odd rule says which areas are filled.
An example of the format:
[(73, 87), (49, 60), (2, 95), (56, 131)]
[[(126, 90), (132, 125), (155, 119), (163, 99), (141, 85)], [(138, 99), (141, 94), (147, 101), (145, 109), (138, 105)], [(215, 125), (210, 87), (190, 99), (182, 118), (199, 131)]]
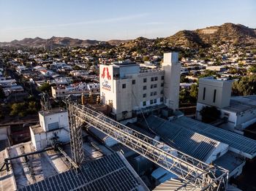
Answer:
[[(86, 122), (89, 125), (101, 130), (103, 133), (112, 137), (116, 141), (124, 144), (129, 149), (138, 152), (157, 165), (165, 168), (173, 174), (176, 174), (184, 183), (177, 190), (226, 190), (228, 171), (214, 165), (208, 165), (200, 160), (190, 157), (189, 155), (179, 152), (166, 144), (151, 139), (148, 136), (132, 130), (125, 125), (122, 125), (104, 114), (95, 112), (86, 106), (80, 104), (69, 104), (70, 117), (70, 133), (72, 134), (72, 145), (75, 145), (75, 140), (78, 140), (80, 128), (77, 124)], [(78, 128), (79, 131), (76, 131)], [(80, 140), (81, 139), (81, 136)], [(81, 145), (79, 142), (77, 145)], [(80, 146), (79, 146), (80, 147)], [(72, 147), (72, 149), (75, 148)], [(72, 156), (78, 157), (80, 162), (80, 154), (78, 147)], [(74, 152), (73, 151), (73, 152)]]

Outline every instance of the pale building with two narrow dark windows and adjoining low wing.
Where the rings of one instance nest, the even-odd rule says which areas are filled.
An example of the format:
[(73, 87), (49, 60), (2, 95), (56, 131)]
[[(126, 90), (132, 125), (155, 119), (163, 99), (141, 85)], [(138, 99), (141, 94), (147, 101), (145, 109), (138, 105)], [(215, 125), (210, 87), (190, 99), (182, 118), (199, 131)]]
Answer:
[(256, 122), (256, 96), (231, 97), (232, 81), (206, 77), (199, 79), (197, 120), (204, 106), (216, 106), (221, 118), (227, 118), (222, 128), (243, 134), (244, 128)]

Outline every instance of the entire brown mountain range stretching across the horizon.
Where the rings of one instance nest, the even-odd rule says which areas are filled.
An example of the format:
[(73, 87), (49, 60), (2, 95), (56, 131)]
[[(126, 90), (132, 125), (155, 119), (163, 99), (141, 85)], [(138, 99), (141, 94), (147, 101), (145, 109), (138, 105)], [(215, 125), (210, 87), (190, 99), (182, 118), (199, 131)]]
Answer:
[(219, 42), (229, 42), (233, 44), (256, 44), (256, 29), (248, 28), (240, 24), (225, 23), (221, 26), (210, 26), (200, 28), (194, 31), (178, 31), (172, 36), (157, 39), (146, 39), (140, 37), (135, 40), (118, 40), (113, 39), (108, 42), (97, 40), (82, 40), (72, 39), (69, 37), (56, 37), (50, 39), (41, 39), (36, 37), (34, 39), (25, 38), (20, 41), (13, 40), (12, 42), (0, 42), (0, 46), (10, 47), (85, 47), (108, 43), (111, 45), (122, 44), (124, 47), (131, 47), (134, 44), (141, 43), (161, 44), (170, 47), (208, 47)]

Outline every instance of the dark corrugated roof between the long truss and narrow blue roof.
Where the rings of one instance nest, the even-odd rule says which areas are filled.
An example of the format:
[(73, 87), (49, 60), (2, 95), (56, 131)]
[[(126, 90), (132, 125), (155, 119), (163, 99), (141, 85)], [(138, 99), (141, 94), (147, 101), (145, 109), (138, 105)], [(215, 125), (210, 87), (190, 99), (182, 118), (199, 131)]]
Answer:
[(149, 127), (161, 136), (162, 139), (165, 139), (171, 147), (204, 162), (220, 144), (219, 141), (195, 133), (192, 130), (183, 128), (181, 125), (176, 125), (157, 116), (151, 115), (147, 118), (147, 122)]

